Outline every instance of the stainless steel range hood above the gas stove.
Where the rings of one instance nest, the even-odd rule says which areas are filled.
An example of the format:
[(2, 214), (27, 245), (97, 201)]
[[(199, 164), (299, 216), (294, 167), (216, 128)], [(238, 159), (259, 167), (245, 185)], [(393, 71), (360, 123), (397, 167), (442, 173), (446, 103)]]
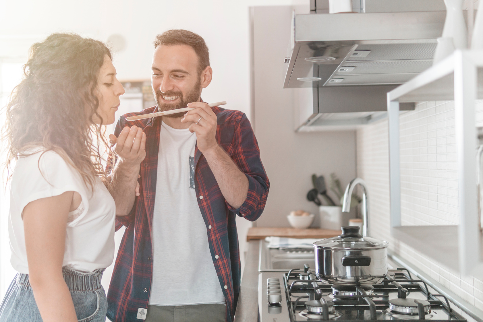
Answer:
[[(336, 123), (369, 123), (367, 112), (386, 111), (387, 92), (432, 65), (446, 17), (443, 1), (353, 0), (361, 13), (324, 13), (327, 8), (327, 0), (312, 0), (312, 14), (294, 15), (284, 88), (313, 88), (314, 114), (306, 126), (317, 124), (320, 113), (355, 112), (357, 120)], [(330, 117), (322, 119), (330, 124)]]

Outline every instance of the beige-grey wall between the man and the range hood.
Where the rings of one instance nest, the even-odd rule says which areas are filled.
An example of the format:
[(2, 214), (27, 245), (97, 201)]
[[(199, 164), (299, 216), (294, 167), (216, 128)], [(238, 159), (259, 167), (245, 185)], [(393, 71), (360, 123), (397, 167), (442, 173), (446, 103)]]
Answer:
[(311, 90), (283, 88), (294, 9), (309, 11), (308, 5), (254, 8), (255, 133), (271, 185), (257, 226), (288, 227), (290, 211), (303, 209), (317, 214), (317, 227), (318, 208), (306, 198), (312, 174), (324, 175), (328, 186), (334, 172), (344, 188), (355, 178), (355, 131), (294, 131), (298, 94), (312, 98)]

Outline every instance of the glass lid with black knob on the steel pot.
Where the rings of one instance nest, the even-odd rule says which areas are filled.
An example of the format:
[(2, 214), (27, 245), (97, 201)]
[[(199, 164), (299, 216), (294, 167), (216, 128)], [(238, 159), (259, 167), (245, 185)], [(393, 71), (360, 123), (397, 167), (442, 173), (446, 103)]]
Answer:
[(341, 227), (341, 230), (341, 235), (316, 241), (313, 247), (329, 250), (371, 251), (386, 248), (389, 244), (384, 240), (363, 237), (359, 234), (358, 226), (345, 226)]

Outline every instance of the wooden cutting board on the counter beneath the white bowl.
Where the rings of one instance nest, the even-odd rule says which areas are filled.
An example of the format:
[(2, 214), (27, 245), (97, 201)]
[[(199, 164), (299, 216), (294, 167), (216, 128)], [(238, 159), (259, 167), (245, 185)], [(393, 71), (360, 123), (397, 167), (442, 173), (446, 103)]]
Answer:
[(248, 229), (246, 240), (265, 239), (269, 236), (288, 237), (288, 238), (330, 238), (340, 235), (340, 230), (308, 228), (297, 229), (287, 227), (252, 227)]

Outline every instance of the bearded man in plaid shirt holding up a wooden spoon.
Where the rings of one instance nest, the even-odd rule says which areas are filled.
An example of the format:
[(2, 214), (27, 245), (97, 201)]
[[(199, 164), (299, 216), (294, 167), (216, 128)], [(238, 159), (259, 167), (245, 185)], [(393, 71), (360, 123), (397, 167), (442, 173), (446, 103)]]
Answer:
[[(154, 45), (157, 106), (122, 116), (110, 137), (120, 156), (112, 171), (116, 227), (127, 229), (107, 316), (119, 322), (232, 321), (240, 291), (235, 215), (250, 221), (261, 215), (269, 180), (244, 113), (201, 100), (213, 72), (204, 40), (169, 30)], [(186, 106), (194, 110), (125, 119)]]

